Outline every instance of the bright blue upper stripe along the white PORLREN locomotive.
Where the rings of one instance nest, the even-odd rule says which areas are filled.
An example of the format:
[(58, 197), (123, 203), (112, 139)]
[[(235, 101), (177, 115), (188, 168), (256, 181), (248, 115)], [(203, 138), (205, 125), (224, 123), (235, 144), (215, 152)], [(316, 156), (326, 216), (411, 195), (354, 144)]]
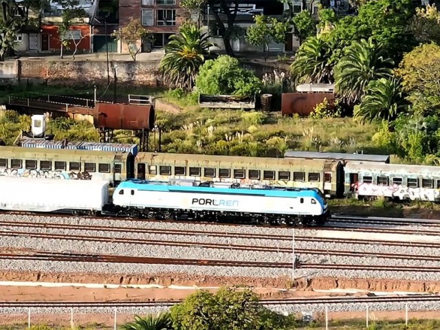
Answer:
[(250, 195), (250, 196), (265, 196), (278, 198), (300, 198), (313, 197), (320, 203), (322, 209), (325, 208), (325, 201), (314, 189), (298, 189), (298, 190), (265, 190), (265, 189), (247, 189), (247, 188), (213, 188), (213, 187), (199, 187), (199, 186), (173, 186), (168, 183), (154, 183), (151, 181), (135, 182), (124, 181), (118, 186), (118, 189), (135, 189), (147, 191), (162, 191), (162, 192), (194, 192), (194, 193), (210, 193), (221, 195)]

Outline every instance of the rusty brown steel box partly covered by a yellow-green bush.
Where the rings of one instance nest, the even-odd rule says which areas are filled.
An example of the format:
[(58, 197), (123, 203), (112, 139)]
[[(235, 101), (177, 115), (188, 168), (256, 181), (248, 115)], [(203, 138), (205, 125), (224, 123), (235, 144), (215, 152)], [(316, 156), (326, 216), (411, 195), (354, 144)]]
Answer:
[(329, 103), (335, 102), (333, 93), (283, 93), (281, 96), (281, 113), (283, 115), (309, 115), (314, 111), (316, 104), (325, 98)]

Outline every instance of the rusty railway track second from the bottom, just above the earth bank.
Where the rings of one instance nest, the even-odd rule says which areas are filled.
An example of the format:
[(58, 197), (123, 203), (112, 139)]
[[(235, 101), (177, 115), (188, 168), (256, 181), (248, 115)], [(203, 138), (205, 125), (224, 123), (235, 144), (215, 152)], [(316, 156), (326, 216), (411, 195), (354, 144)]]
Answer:
[[(258, 268), (292, 268), (292, 263), (261, 262), (261, 261), (224, 261), (200, 259), (171, 259), (140, 256), (113, 256), (104, 254), (63, 254), (57, 252), (16, 251), (0, 252), (0, 258), (8, 260), (30, 261), (64, 261), (89, 263), (137, 263), (150, 265), (191, 265), (215, 267), (258, 267)], [(347, 265), (336, 263), (301, 263), (301, 269), (314, 270), (375, 270), (382, 272), (440, 272), (440, 267), (429, 266), (386, 266), (386, 265)]]

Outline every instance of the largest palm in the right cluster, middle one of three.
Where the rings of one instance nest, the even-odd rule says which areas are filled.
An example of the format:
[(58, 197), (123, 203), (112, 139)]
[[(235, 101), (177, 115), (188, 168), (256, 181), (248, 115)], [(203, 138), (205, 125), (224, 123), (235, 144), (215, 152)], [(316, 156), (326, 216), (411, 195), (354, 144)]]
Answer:
[(335, 67), (336, 92), (347, 103), (356, 103), (371, 80), (391, 78), (394, 63), (384, 58), (382, 44), (368, 41), (353, 41)]

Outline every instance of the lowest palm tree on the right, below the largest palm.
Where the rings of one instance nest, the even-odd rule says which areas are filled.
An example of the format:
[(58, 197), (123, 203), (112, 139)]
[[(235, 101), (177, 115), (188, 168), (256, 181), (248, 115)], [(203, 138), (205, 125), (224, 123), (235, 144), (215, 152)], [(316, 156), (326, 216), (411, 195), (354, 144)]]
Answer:
[(406, 109), (400, 80), (380, 78), (371, 80), (366, 87), (360, 104), (355, 106), (354, 116), (362, 123), (380, 119), (391, 121)]

